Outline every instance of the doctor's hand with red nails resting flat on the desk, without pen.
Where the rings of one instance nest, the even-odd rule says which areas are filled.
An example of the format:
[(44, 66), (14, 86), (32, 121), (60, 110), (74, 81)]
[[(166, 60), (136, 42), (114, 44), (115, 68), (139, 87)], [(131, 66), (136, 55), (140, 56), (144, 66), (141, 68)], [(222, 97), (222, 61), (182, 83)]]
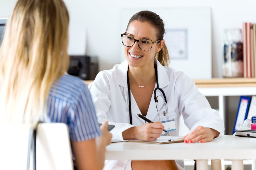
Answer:
[(194, 143), (194, 142), (209, 142), (212, 141), (214, 138), (219, 136), (219, 132), (217, 130), (198, 126), (188, 135), (184, 136), (185, 143)]

